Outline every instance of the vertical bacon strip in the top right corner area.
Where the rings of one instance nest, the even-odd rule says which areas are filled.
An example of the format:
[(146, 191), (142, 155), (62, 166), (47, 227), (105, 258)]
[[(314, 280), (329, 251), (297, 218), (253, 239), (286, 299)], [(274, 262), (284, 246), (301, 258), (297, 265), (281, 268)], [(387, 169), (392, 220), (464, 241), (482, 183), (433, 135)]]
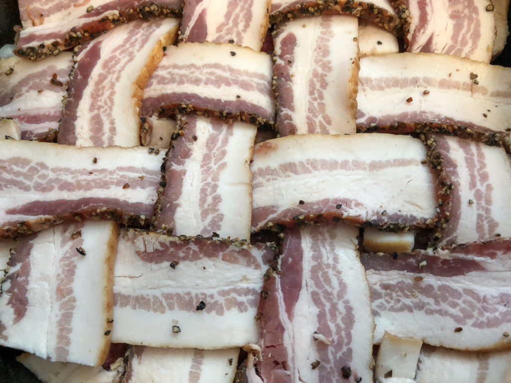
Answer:
[(490, 0), (404, 0), (408, 52), (445, 53), (489, 63), (495, 41)]

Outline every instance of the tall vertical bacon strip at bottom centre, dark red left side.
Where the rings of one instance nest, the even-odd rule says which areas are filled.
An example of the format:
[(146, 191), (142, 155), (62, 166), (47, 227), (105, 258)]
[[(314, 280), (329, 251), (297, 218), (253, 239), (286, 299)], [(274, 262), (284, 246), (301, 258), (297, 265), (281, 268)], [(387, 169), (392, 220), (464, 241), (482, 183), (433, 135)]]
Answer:
[(336, 224), (285, 232), (281, 271), (265, 281), (258, 308), (262, 381), (373, 381), (374, 322), (357, 235)]

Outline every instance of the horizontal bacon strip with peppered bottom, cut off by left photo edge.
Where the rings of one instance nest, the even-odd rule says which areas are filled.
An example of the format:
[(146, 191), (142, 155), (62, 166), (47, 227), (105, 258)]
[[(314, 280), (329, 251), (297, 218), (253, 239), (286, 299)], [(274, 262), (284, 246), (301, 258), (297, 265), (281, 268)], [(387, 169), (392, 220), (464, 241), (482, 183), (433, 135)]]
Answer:
[(163, 163), (157, 153), (144, 147), (0, 140), (0, 236), (81, 216), (148, 224)]

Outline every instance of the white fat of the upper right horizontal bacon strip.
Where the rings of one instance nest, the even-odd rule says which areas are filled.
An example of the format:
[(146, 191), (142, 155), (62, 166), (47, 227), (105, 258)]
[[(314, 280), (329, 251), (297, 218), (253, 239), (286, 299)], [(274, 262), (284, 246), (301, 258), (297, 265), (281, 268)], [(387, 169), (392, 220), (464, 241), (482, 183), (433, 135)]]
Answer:
[[(478, 85), (471, 74), (477, 75)], [(398, 83), (388, 81), (384, 87), (375, 89), (372, 81), (379, 78), (390, 78)], [(413, 85), (402, 86), (399, 79), (413, 79)], [(446, 87), (447, 81), (454, 81), (455, 85)], [(362, 112), (365, 116), (359, 117), (357, 124), (363, 124), (367, 117), (385, 116), (399, 110), (421, 112), (426, 116), (425, 121), (428, 121), (428, 113), (439, 114), (493, 131), (504, 131), (511, 124), (509, 87), (511, 68), (469, 59), (426, 53), (364, 57), (360, 59), (357, 103), (359, 114)], [(429, 93), (424, 94), (425, 90)], [(411, 102), (407, 102), (409, 98)], [(403, 118), (403, 122), (406, 121)]]

